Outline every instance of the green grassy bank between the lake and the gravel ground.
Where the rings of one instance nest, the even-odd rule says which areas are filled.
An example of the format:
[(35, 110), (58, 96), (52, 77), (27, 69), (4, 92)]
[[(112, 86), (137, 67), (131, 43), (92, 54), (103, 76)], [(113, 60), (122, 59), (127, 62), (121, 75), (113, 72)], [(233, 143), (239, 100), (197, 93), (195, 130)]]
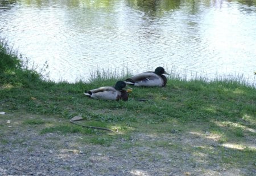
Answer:
[[(82, 93), (114, 85), (117, 79), (101, 81), (98, 74), (98, 79), (92, 79), (90, 83), (53, 83), (43, 81), (35, 71), (22, 68), (18, 58), (3, 47), (0, 57), (0, 111), (7, 114), (2, 115), (2, 119), (10, 119), (8, 114), (17, 113), (43, 115), (56, 120), (25, 118), (20, 125), (38, 128), (41, 135), (49, 132), (82, 134), (86, 136), (82, 139), (85, 144), (111, 146), (123, 139), (126, 142), (122, 148), (154, 145), (174, 152), (183, 148), (187, 153), (218, 155), (221, 160), (216, 161), (222, 165), (250, 171), (255, 167), (255, 146), (251, 145), (255, 144), (256, 136), (256, 89), (253, 87), (232, 80), (205, 82), (168, 78), (164, 88), (134, 88), (126, 102), (92, 100)], [(11, 64), (5, 61), (11, 61)], [(84, 125), (118, 130), (118, 133), (69, 123), (69, 119), (76, 115), (84, 118), (80, 122)], [(1, 127), (7, 128), (3, 123)], [(184, 146), (180, 142), (170, 144), (164, 140), (130, 143), (129, 139), (137, 132), (155, 136), (193, 134), (214, 140), (218, 145), (210, 149)]]

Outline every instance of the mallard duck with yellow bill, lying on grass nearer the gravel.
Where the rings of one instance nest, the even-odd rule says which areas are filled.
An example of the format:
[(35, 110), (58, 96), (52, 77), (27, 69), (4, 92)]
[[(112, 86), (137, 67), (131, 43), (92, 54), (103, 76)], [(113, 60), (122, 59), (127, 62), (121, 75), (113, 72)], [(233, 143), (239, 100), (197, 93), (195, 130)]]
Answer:
[(114, 87), (100, 87), (97, 89), (92, 89), (90, 91), (86, 91), (84, 95), (101, 100), (128, 100), (128, 92), (131, 92), (131, 89), (128, 91), (123, 88), (126, 87), (126, 83), (124, 81), (117, 81)]

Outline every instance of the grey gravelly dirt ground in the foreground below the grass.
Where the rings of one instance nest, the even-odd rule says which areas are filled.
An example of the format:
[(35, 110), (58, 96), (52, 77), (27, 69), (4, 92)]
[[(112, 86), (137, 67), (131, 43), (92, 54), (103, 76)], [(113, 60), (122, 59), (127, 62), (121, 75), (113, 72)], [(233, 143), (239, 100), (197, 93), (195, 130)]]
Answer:
[(0, 117), (0, 175), (256, 175), (255, 161), (225, 164), (232, 150), (212, 134), (134, 132), (106, 147), (81, 134), (41, 135), (42, 126), (21, 125), (23, 118)]

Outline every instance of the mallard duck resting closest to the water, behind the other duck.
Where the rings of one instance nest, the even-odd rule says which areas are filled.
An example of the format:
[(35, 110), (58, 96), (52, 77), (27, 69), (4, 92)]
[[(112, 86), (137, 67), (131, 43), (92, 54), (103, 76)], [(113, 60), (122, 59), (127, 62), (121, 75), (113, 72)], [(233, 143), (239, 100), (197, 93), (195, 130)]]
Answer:
[(125, 80), (126, 84), (135, 85), (137, 87), (164, 87), (167, 83), (167, 78), (163, 74), (167, 74), (163, 67), (155, 68), (155, 71), (147, 71), (141, 74), (132, 76)]

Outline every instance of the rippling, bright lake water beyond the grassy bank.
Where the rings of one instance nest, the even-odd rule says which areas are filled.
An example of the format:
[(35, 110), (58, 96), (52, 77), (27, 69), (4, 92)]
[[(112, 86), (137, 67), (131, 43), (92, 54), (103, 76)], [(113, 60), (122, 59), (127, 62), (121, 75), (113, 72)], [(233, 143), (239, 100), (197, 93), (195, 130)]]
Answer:
[(256, 1), (0, 1), (0, 37), (55, 81), (164, 66), (255, 84)]

